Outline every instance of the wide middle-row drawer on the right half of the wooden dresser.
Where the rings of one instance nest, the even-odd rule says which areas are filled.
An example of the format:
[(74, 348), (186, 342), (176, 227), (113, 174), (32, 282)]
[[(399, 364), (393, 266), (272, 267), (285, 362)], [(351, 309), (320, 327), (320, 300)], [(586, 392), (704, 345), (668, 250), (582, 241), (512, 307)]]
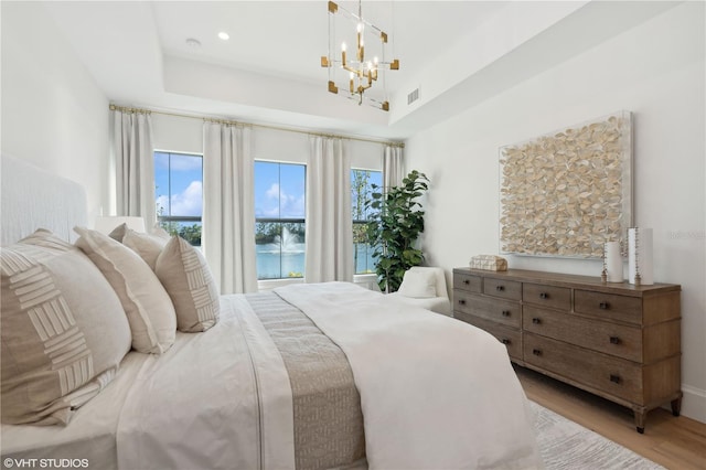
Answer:
[(642, 361), (640, 328), (523, 306), (522, 329), (629, 361)]

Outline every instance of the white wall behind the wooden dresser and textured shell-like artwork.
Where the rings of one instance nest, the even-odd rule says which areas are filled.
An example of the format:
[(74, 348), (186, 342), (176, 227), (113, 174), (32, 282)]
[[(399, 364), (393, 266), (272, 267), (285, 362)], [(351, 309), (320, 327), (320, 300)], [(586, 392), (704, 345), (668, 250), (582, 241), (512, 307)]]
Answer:
[[(654, 229), (654, 278), (682, 285), (683, 413), (706, 421), (704, 3), (688, 2), (406, 142), (431, 180), (427, 263), (499, 253), (501, 146), (625, 109), (634, 125), (634, 222)], [(593, 260), (509, 256), (512, 268), (599, 276)]]

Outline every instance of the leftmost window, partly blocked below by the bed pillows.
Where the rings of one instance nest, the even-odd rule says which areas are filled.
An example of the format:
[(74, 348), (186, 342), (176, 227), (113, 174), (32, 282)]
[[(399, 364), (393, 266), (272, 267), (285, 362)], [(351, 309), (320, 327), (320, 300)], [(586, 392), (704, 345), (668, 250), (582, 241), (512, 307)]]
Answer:
[(154, 152), (157, 217), (170, 234), (201, 246), (203, 157)]

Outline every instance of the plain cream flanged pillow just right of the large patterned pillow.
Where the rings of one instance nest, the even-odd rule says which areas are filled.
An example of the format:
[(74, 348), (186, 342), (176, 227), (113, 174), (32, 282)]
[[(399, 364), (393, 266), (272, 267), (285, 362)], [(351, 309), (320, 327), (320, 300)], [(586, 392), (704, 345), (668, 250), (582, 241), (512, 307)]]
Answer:
[(161, 354), (174, 343), (174, 306), (150, 267), (127, 246), (99, 232), (74, 231), (78, 246), (108, 279), (118, 293), (132, 331), (132, 348)]

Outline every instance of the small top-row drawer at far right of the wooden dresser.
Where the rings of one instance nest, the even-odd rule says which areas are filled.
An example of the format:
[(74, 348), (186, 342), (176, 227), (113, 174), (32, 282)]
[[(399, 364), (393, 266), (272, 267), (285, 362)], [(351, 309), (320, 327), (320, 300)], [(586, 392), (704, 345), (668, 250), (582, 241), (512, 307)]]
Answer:
[(642, 324), (642, 300), (638, 297), (577, 289), (574, 292), (574, 311), (600, 319)]

